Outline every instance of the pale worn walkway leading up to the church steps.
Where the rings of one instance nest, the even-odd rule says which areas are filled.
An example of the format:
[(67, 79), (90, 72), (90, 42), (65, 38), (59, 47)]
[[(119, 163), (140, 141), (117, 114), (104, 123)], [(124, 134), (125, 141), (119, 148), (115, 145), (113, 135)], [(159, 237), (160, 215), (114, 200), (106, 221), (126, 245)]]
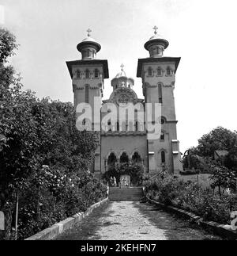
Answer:
[(157, 206), (139, 201), (111, 201), (59, 240), (203, 240), (220, 239)]

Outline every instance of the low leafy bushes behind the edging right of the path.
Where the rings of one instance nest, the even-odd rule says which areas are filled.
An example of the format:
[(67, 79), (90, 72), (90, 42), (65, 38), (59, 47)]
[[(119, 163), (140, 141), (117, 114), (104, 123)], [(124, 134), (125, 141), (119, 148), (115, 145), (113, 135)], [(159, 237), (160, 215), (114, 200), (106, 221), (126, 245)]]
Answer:
[(164, 204), (194, 212), (205, 220), (230, 224), (230, 212), (237, 210), (234, 194), (218, 195), (212, 189), (198, 188), (193, 181), (179, 181), (172, 177), (145, 181), (146, 195)]

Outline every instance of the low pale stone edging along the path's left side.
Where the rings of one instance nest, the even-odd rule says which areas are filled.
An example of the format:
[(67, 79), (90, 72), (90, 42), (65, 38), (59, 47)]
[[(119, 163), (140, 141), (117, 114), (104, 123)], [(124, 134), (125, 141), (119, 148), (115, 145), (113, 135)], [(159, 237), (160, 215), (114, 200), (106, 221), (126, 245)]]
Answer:
[(86, 216), (92, 213), (95, 208), (98, 208), (100, 205), (105, 204), (108, 201), (108, 197), (103, 199), (96, 204), (92, 204), (89, 208), (86, 209), (85, 212), (78, 212), (77, 214), (67, 218), (66, 220), (62, 220), (57, 224), (52, 225), (51, 227), (47, 227), (43, 231), (36, 233), (24, 240), (50, 240), (55, 238), (56, 235), (61, 234), (63, 231), (66, 231), (70, 227), (73, 227), (75, 224), (83, 220)]

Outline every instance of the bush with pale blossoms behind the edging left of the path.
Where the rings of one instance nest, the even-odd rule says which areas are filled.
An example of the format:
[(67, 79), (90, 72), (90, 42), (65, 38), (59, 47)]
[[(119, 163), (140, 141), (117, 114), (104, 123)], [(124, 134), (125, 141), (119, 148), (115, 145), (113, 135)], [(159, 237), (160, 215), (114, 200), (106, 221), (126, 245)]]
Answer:
[[(44, 179), (43, 174), (46, 174)], [(87, 172), (67, 176), (62, 170), (47, 168), (42, 172), (40, 183), (39, 186), (33, 178), (20, 193), (18, 239), (83, 212), (107, 196), (107, 187)]]

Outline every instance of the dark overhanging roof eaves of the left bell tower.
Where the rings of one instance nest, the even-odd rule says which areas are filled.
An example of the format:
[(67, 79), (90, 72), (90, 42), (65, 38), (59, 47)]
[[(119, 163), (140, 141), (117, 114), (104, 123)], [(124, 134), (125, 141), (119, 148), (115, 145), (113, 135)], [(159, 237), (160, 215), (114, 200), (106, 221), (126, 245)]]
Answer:
[(107, 59), (89, 59), (89, 60), (72, 60), (66, 61), (66, 66), (70, 71), (70, 76), (73, 78), (73, 66), (84, 66), (84, 65), (103, 65), (103, 77), (109, 78), (108, 67), (107, 67)]

